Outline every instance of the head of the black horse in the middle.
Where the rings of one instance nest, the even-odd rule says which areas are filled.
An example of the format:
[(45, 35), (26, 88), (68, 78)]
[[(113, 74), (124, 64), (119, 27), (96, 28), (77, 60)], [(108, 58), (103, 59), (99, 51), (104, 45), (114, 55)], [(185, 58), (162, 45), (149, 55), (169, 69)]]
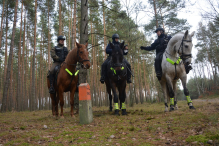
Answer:
[(124, 49), (124, 41), (121, 44), (114, 45), (109, 41), (110, 47), (112, 49), (112, 67), (115, 70), (121, 70), (123, 67), (123, 49)]

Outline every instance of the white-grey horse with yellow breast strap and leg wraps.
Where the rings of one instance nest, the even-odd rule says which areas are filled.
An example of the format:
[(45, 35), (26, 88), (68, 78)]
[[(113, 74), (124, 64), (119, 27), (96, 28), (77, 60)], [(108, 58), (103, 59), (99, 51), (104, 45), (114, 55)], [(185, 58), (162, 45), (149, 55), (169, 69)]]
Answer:
[(177, 107), (176, 83), (180, 79), (184, 88), (184, 94), (187, 97), (187, 103), (190, 109), (195, 109), (189, 96), (189, 90), (186, 87), (187, 74), (184, 64), (191, 63), (192, 37), (188, 30), (185, 33), (177, 33), (174, 35), (163, 54), (162, 59), (162, 78), (160, 84), (164, 93), (165, 111), (168, 111), (167, 98), (170, 98), (170, 111)]

